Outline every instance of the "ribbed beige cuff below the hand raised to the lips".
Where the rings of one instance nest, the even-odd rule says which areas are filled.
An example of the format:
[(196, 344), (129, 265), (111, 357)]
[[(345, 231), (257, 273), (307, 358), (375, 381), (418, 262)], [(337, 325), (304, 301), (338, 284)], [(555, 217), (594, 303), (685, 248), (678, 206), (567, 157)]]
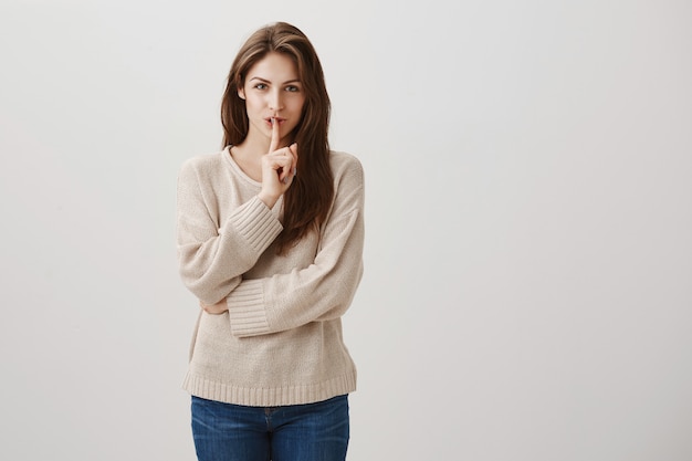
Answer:
[(266, 250), (283, 230), (283, 226), (272, 210), (256, 196), (231, 214), (229, 223), (248, 240), (250, 247), (258, 253)]

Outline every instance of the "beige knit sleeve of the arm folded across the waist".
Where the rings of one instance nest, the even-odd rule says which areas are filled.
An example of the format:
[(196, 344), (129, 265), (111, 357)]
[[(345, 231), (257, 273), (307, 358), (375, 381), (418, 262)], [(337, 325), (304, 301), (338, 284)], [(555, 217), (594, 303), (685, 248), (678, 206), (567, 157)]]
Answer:
[(227, 297), (231, 332), (256, 336), (342, 316), (363, 276), (364, 180), (358, 161), (339, 178), (314, 262), (243, 280)]

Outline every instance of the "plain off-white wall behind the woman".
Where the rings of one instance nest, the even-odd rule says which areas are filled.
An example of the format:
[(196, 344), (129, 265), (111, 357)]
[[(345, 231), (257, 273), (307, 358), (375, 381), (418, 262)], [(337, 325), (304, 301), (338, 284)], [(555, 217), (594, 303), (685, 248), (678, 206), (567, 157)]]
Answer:
[(193, 459), (176, 175), (275, 20), (366, 168), (349, 459), (692, 459), (691, 13), (2, 0), (0, 459)]

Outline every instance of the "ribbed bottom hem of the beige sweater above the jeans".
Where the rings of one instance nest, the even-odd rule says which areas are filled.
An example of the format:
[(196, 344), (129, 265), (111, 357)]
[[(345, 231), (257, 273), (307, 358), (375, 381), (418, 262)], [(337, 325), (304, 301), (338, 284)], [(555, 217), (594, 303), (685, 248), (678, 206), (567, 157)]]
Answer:
[(322, 401), (356, 390), (356, 371), (323, 383), (277, 388), (234, 387), (188, 374), (182, 388), (193, 396), (249, 407), (280, 407)]

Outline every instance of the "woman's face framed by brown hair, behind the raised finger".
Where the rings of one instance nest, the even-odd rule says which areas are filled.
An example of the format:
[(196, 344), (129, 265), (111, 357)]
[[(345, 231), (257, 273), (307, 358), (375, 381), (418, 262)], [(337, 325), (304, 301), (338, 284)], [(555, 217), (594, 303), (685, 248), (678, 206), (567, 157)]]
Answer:
[(238, 95), (245, 99), (250, 128), (248, 136), (272, 138), (272, 118), (279, 123), (281, 145), (301, 121), (305, 93), (293, 60), (281, 53), (269, 53), (245, 76)]

